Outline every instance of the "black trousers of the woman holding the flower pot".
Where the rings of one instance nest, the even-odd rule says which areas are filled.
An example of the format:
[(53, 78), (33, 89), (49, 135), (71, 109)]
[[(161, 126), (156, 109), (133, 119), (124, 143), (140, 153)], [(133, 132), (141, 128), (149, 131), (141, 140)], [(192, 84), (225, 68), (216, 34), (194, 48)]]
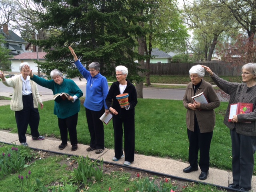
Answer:
[(123, 154), (123, 124), (124, 124), (124, 160), (134, 162), (135, 150), (135, 120), (130, 118), (113, 118), (115, 157), (119, 159)]

